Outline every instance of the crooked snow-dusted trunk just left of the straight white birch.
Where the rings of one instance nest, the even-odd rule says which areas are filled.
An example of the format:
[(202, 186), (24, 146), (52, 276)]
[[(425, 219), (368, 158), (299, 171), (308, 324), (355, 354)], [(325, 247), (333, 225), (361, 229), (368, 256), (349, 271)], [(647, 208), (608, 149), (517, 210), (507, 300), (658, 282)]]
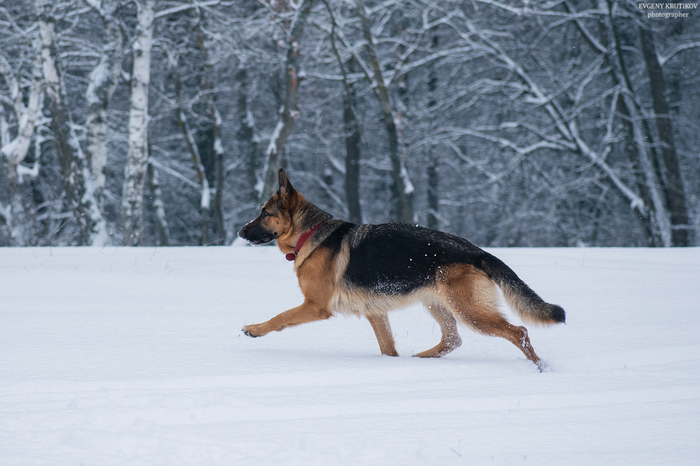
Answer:
[(107, 109), (117, 88), (121, 74), (122, 33), (117, 21), (119, 2), (106, 0), (106, 5), (96, 8), (102, 20), (104, 43), (102, 56), (90, 73), (85, 98), (87, 100), (85, 155), (90, 164), (95, 198), (102, 205), (107, 166)]

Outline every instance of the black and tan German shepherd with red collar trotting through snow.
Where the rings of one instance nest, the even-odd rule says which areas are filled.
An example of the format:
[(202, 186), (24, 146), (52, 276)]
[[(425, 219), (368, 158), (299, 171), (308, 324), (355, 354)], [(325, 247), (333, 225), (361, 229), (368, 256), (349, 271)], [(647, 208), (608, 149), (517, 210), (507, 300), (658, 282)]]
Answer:
[(334, 220), (296, 191), (284, 170), (279, 171), (279, 191), (238, 235), (252, 244), (276, 239), (287, 259), (294, 261), (304, 294), (300, 306), (243, 327), (250, 337), (339, 312), (365, 316), (382, 354), (398, 356), (387, 313), (421, 302), (440, 324), (442, 338), (415, 356), (437, 358), (458, 348), (459, 321), (507, 339), (542, 370), (527, 329), (510, 324), (499, 311), (499, 289), (524, 321), (565, 321), (564, 309), (544, 302), (506, 264), (469, 241), (405, 223), (355, 225)]

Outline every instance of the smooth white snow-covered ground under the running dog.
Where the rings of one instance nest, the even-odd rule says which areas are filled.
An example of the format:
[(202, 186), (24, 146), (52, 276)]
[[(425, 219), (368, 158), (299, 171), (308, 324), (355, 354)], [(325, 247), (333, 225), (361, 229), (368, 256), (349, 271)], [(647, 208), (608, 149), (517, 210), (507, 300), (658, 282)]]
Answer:
[(276, 248), (0, 249), (0, 464), (698, 464), (700, 249), (491, 252), (566, 309), (551, 372), (466, 328), (411, 358), (420, 308), (400, 358), (342, 316), (247, 338), (301, 300)]

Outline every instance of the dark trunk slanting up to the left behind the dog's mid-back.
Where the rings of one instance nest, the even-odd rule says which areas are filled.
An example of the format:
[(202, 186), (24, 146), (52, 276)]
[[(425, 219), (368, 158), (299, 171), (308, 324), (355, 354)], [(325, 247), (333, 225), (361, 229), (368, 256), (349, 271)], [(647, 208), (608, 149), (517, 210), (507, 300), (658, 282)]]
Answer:
[(384, 126), (389, 138), (389, 158), (391, 160), (391, 177), (393, 181), (391, 193), (396, 202), (396, 219), (400, 222), (413, 222), (413, 184), (408, 176), (405, 161), (399, 153), (399, 132), (394, 119), (394, 109), (389, 97), (389, 90), (387, 89), (379, 64), (375, 40), (372, 35), (365, 6), (362, 0), (355, 0), (355, 5), (360, 14), (362, 30), (364, 32), (365, 41), (367, 42), (367, 52), (374, 73), (372, 87), (379, 100), (382, 116), (384, 117)]

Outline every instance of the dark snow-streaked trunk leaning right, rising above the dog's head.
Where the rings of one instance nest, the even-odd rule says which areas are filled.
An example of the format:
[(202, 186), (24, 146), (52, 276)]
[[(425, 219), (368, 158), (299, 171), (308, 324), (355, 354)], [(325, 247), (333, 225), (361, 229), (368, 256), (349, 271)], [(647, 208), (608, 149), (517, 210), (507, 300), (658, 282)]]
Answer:
[(284, 148), (292, 133), (294, 122), (299, 118), (299, 84), (303, 79), (300, 73), (301, 40), (304, 35), (304, 23), (311, 13), (315, 0), (300, 0), (292, 27), (289, 31), (287, 63), (285, 66), (286, 93), (284, 104), (280, 109), (277, 125), (270, 137), (270, 144), (265, 151), (265, 168), (263, 183), (258, 189), (258, 201), (264, 202), (272, 196), (277, 187), (277, 172), (282, 165)]

